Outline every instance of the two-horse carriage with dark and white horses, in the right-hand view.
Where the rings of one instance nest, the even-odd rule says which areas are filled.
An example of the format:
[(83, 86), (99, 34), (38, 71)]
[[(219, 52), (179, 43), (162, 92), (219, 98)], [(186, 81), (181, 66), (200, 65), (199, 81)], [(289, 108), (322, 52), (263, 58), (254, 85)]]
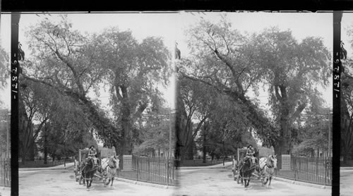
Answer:
[(270, 187), (271, 179), (273, 173), (277, 169), (277, 158), (273, 155), (268, 155), (268, 157), (261, 157), (253, 163), (251, 158), (246, 157), (246, 148), (237, 149), (237, 159), (233, 159), (233, 176), (237, 183), (243, 183), (246, 188), (249, 186), (251, 177), (256, 177), (260, 179), (262, 185), (268, 183)]

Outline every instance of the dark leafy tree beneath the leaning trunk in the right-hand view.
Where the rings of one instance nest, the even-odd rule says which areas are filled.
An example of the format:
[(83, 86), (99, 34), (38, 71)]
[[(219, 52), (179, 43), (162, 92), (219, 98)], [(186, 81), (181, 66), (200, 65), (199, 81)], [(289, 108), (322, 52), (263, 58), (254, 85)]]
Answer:
[(215, 109), (210, 111), (206, 128), (203, 128), (201, 135), (201, 138), (206, 138), (201, 141), (207, 147), (208, 153), (212, 157), (225, 158), (249, 144), (257, 147), (241, 106), (224, 94), (218, 95), (216, 100)]

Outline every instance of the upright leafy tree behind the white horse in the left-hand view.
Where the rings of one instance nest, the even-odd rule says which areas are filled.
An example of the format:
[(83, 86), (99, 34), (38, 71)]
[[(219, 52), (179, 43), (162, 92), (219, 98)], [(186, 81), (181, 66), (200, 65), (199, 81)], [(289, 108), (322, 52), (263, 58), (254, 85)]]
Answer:
[(159, 37), (138, 42), (131, 31), (119, 31), (117, 27), (95, 35), (90, 47), (96, 51), (98, 64), (107, 70), (105, 80), (110, 87), (114, 120), (121, 130), (122, 140), (112, 145), (119, 154), (131, 154), (134, 124), (148, 106), (162, 103), (157, 85), (167, 84), (169, 51)]

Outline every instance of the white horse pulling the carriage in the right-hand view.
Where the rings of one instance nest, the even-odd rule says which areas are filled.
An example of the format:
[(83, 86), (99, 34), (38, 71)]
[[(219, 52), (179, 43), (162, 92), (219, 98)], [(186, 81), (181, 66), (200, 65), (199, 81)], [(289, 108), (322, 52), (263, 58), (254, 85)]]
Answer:
[(271, 188), (271, 180), (275, 169), (277, 169), (276, 155), (269, 155), (260, 159), (261, 182), (262, 186), (268, 183), (268, 188)]

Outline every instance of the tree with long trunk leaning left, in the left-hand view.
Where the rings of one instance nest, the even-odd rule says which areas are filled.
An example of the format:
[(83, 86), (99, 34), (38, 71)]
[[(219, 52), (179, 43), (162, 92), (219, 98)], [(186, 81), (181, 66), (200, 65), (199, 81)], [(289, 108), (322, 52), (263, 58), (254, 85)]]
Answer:
[(61, 16), (59, 23), (42, 20), (30, 27), (26, 35), (32, 54), (23, 63), (23, 78), (47, 85), (61, 97), (70, 99), (80, 107), (98, 134), (117, 140), (119, 129), (88, 97), (90, 91), (99, 92), (102, 76), (106, 73), (97, 66), (93, 58), (95, 51), (88, 47), (90, 36), (73, 30), (66, 16)]

